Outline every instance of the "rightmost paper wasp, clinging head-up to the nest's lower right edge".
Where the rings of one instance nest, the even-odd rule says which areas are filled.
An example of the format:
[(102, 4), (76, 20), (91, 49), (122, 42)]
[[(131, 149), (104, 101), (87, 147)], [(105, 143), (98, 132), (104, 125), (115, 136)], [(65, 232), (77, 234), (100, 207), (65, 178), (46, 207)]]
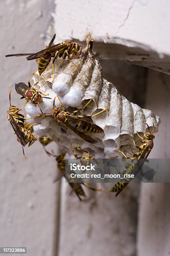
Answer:
[[(135, 147), (139, 149), (139, 151), (137, 151), (133, 155), (133, 157), (127, 157), (122, 151), (117, 149), (117, 151), (120, 152), (125, 158), (133, 159), (127, 171), (124, 171), (123, 174), (134, 174), (134, 176), (136, 176), (140, 171), (140, 169), (142, 168), (143, 164), (145, 163), (148, 155), (150, 154), (150, 151), (153, 148), (153, 139), (155, 138), (155, 136), (153, 135), (154, 126), (153, 126), (153, 131), (151, 133), (149, 125), (148, 124), (146, 125), (148, 126), (149, 132), (144, 133), (144, 137), (140, 136), (139, 133), (137, 132), (138, 137), (141, 139), (141, 145), (137, 146), (133, 139), (133, 143)], [(122, 179), (121, 181), (117, 182), (112, 187), (112, 189), (110, 189), (109, 192), (116, 192), (116, 197), (117, 197), (117, 195), (120, 194), (120, 192), (128, 185), (128, 183), (131, 180), (132, 179), (126, 179), (126, 178)]]

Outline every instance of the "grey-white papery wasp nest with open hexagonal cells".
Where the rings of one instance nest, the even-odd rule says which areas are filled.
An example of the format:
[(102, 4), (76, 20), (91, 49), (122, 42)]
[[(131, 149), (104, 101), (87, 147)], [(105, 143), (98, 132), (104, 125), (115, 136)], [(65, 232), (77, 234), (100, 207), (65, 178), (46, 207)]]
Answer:
[[(129, 102), (120, 95), (112, 83), (102, 77), (102, 68), (95, 59), (90, 46), (82, 51), (79, 58), (72, 59), (72, 62), (63, 59), (55, 60), (53, 83), (51, 65), (42, 77), (36, 73), (33, 80), (35, 83), (46, 79), (38, 83), (38, 89), (51, 98), (43, 98), (43, 102), (40, 103), (43, 113), (49, 113), (53, 110), (53, 100), (57, 95), (63, 107), (70, 113), (82, 108), (90, 99), (92, 99), (90, 104), (84, 110), (80, 110), (81, 114), (94, 115), (107, 108), (104, 112), (92, 117), (92, 121), (99, 125), (104, 133), (92, 133), (92, 137), (97, 140), (97, 143), (82, 141), (82, 148), (90, 151), (95, 158), (116, 156), (115, 148), (120, 148), (120, 146), (124, 149), (131, 148), (133, 145), (132, 136), (135, 136), (137, 132), (145, 133), (146, 123), (150, 127), (154, 125), (154, 132), (158, 131), (160, 121), (158, 116), (154, 115), (151, 110), (142, 109)], [(60, 106), (57, 97), (55, 106)], [(27, 118), (38, 115), (40, 108), (28, 102), (25, 106)], [(67, 151), (70, 154), (72, 151), (70, 144), (76, 147), (80, 137), (69, 128), (66, 129), (63, 123), (56, 122), (50, 113), (46, 115), (49, 116), (45, 119), (42, 117), (30, 119), (30, 123), (41, 122), (41, 124), (34, 126), (35, 133), (39, 136), (51, 136), (60, 145), (61, 151)], [(70, 121), (70, 123), (72, 122)], [(72, 125), (75, 127), (74, 123)]]

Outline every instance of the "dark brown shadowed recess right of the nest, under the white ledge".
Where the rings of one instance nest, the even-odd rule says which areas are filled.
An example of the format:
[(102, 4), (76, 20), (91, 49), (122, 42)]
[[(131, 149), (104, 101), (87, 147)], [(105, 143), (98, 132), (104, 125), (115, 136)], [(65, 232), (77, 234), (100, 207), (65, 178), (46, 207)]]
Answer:
[(145, 108), (147, 68), (124, 61), (100, 60), (103, 77), (115, 85), (130, 102)]

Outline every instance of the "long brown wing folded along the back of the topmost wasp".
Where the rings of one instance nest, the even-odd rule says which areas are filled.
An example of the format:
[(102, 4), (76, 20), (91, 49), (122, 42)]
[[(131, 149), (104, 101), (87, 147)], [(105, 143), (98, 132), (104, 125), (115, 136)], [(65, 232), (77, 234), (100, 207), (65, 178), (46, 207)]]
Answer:
[(65, 49), (67, 48), (67, 44), (63, 45), (63, 44), (55, 44), (53, 46), (50, 46), (46, 49), (43, 49), (41, 51), (38, 51), (36, 52), (35, 54), (31, 54), (30, 56), (27, 57), (27, 60), (32, 60), (32, 59), (38, 59), (38, 58), (41, 58), (42, 56), (44, 56), (44, 54), (47, 54), (47, 53), (53, 53), (55, 51), (61, 51), (61, 49)]

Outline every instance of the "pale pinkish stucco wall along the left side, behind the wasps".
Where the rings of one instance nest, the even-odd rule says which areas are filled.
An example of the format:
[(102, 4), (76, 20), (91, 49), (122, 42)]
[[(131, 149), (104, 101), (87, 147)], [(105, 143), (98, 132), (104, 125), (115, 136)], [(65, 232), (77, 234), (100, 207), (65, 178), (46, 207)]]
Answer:
[(5, 54), (37, 51), (44, 47), (43, 34), (51, 23), (52, 0), (0, 1), (0, 246), (27, 246), (28, 256), (51, 256), (55, 232), (57, 184), (52, 184), (55, 161), (39, 143), (22, 147), (7, 121), (9, 91), (12, 104), (23, 105), (15, 82), (27, 83), (37, 68), (25, 57)]

